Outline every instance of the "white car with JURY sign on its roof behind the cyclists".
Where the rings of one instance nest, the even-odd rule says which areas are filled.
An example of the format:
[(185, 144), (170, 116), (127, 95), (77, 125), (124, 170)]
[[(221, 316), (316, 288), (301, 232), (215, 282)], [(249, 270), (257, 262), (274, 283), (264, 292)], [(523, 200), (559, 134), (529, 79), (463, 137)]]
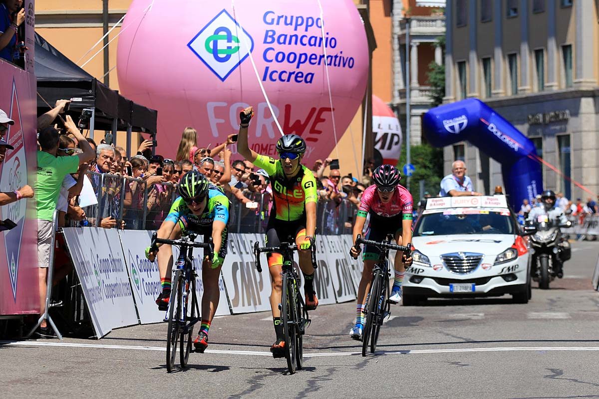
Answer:
[(428, 297), (531, 297), (530, 252), (505, 196), (431, 198), (418, 218), (403, 304)]

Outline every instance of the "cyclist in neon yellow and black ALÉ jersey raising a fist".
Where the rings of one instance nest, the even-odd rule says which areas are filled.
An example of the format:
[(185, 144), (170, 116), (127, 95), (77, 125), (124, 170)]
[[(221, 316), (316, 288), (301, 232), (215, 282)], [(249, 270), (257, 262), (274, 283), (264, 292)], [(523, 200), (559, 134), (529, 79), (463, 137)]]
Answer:
[[(299, 268), (304, 275), (305, 308), (316, 309), (318, 299), (313, 288), (314, 268), (310, 257), (310, 239), (316, 230), (316, 179), (310, 169), (300, 164), (305, 153), (305, 141), (298, 135), (285, 135), (277, 141), (279, 160), (255, 153), (247, 144), (247, 127), (252, 119), (252, 107), (240, 113), (237, 152), (256, 167), (264, 169), (273, 188), (273, 209), (268, 220), (267, 246), (279, 246), (281, 242), (295, 239), (299, 246)], [(285, 356), (283, 325), (280, 324), (281, 270), (283, 255), (267, 254), (268, 270), (272, 282), (270, 306), (273, 312), (276, 341), (270, 351), (273, 357)]]

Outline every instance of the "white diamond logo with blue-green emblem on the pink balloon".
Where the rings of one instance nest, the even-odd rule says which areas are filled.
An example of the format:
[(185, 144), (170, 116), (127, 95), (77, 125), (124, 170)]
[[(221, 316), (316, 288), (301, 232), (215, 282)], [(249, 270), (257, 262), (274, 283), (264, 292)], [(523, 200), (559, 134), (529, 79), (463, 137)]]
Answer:
[(187, 47), (224, 82), (252, 52), (254, 41), (223, 9), (187, 43)]

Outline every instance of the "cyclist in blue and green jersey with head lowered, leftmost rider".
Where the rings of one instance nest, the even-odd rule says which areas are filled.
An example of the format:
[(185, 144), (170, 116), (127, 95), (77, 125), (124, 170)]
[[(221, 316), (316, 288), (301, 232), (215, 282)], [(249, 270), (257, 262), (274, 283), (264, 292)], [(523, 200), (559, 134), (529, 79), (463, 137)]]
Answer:
[[(183, 175), (179, 184), (179, 195), (157, 233), (158, 238), (171, 240), (186, 236), (189, 232), (202, 234), (204, 242), (212, 237), (214, 256), (212, 259), (205, 257), (202, 262), (202, 322), (198, 337), (193, 341), (196, 351), (203, 353), (208, 346), (208, 329), (220, 299), (219, 276), (227, 252), (229, 199), (198, 170), (190, 170)], [(151, 249), (146, 248), (146, 257), (154, 261), (158, 254), (162, 285), (162, 293), (156, 299), (156, 304), (159, 310), (167, 310), (171, 296), (173, 248), (165, 244), (161, 252)]]

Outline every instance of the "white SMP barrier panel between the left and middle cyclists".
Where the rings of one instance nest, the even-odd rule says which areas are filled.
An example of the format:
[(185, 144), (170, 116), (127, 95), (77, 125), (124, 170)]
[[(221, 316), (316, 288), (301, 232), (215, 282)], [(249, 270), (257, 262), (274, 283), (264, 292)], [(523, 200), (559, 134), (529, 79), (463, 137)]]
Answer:
[(271, 282), (266, 255), (261, 254), (262, 273), (255, 266), (253, 245), (264, 246), (262, 234), (231, 234), (222, 272), (233, 313), (270, 310)]

